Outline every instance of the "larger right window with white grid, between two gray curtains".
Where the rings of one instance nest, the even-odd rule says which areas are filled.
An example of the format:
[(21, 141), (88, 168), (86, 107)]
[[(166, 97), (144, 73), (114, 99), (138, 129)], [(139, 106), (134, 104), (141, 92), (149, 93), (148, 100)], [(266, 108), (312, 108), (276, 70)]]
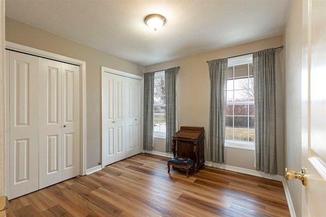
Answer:
[(252, 54), (228, 59), (225, 145), (253, 149), (255, 96)]

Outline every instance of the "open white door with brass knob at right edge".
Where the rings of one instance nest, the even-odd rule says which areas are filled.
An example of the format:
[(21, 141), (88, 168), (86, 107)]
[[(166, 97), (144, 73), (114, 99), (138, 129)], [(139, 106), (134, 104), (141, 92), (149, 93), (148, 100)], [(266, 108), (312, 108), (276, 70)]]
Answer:
[(302, 216), (325, 216), (326, 1), (303, 1)]

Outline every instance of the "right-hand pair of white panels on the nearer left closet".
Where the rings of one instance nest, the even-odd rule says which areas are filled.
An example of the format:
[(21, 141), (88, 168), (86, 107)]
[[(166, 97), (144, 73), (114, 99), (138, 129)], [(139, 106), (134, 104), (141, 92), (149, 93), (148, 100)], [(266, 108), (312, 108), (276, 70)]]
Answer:
[(80, 174), (79, 67), (39, 60), (40, 189)]

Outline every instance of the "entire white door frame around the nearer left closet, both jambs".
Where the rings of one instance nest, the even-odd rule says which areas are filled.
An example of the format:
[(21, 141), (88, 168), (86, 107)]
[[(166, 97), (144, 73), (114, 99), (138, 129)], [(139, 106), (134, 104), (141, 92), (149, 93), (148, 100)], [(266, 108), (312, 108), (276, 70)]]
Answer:
[[(32, 47), (16, 44), (13, 42), (6, 41), (6, 49), (36, 55), (40, 57), (45, 57), (53, 60), (62, 61), (68, 64), (73, 64), (79, 66), (79, 73), (80, 73), (80, 175), (86, 175), (86, 139), (87, 139), (87, 126), (86, 126), (86, 62), (79, 59), (70, 58), (67, 56), (62, 56), (55, 53), (50, 53), (47, 51), (35, 49)], [(6, 74), (6, 73), (4, 73)], [(5, 77), (5, 75), (4, 75)], [(8, 78), (5, 77), (4, 84), (8, 84)], [(3, 96), (6, 96), (7, 91), (9, 89), (7, 87), (4, 87), (4, 94)], [(5, 105), (3, 108), (5, 108), (5, 114), (9, 112), (9, 99), (5, 100)], [(6, 115), (7, 116), (7, 115)], [(6, 132), (4, 135), (5, 137), (5, 144), (9, 144), (9, 126), (7, 123), (7, 120), (4, 120), (6, 122), (4, 132)], [(9, 156), (9, 148), (6, 148), (6, 154), (4, 156), (5, 159), (2, 159), (6, 162), (6, 170), (9, 171), (9, 157), (6, 158), (6, 156)], [(6, 189), (9, 190), (9, 176), (6, 176)], [(8, 194), (9, 192), (7, 192)]]

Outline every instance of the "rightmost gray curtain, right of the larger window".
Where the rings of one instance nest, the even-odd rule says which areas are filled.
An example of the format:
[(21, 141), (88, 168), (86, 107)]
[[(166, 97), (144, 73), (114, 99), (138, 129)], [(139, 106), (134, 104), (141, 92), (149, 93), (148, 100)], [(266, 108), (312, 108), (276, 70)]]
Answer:
[(253, 53), (256, 170), (277, 173), (275, 49)]

